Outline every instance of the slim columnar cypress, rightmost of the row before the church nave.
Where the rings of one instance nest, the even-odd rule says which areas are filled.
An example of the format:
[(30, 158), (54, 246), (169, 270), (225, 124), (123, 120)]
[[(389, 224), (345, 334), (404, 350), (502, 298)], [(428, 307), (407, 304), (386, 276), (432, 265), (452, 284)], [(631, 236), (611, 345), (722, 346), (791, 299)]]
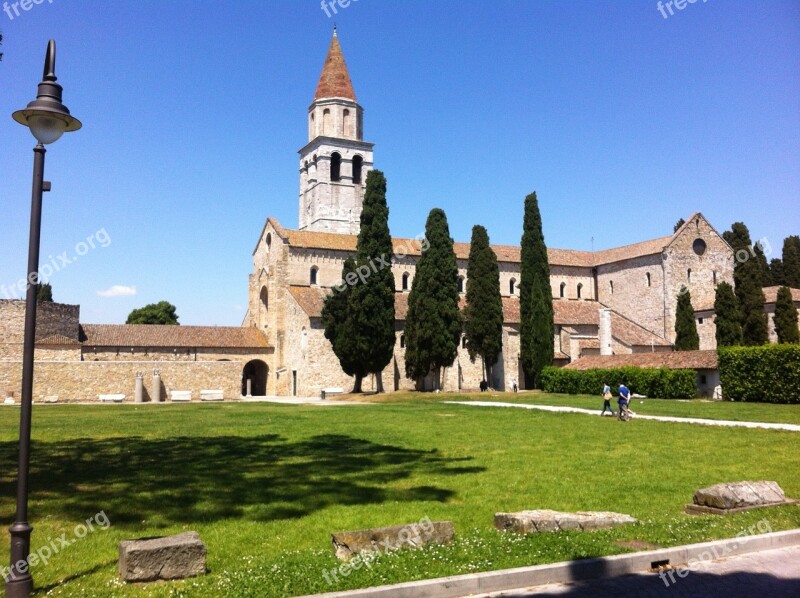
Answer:
[(525, 198), (520, 245), (520, 358), (526, 386), (540, 388), (542, 369), (553, 364), (553, 294), (536, 192)]

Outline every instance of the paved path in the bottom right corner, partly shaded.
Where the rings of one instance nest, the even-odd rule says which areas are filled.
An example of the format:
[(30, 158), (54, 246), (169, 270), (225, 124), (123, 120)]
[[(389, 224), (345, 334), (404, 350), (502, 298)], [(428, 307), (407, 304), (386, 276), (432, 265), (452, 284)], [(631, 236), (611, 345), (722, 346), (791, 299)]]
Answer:
[[(677, 575), (684, 571), (683, 577)], [(800, 596), (800, 546), (764, 550), (702, 563), (695, 571), (676, 569), (672, 580), (656, 573), (623, 575), (580, 583), (505, 590), (472, 598), (529, 596)], [(674, 580), (674, 581), (673, 581)]]

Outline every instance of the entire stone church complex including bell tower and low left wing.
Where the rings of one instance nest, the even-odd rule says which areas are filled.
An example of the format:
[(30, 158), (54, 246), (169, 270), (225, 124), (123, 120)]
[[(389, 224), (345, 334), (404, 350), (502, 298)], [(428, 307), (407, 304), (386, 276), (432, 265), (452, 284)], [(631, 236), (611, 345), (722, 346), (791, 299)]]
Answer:
[[(210, 395), (318, 396), (326, 388), (351, 387), (352, 379), (342, 372), (324, 337), (321, 311), (325, 296), (340, 282), (344, 260), (355, 252), (373, 144), (363, 139), (363, 109), (335, 31), (307, 124), (308, 142), (298, 161), (298, 227), (286, 228), (267, 218), (253, 250), (242, 326), (83, 324), (79, 306), (42, 303), (37, 310), (35, 401), (88, 401), (108, 393), (131, 401), (137, 374), (145, 378), (144, 399), (150, 401), (181, 395), (193, 400)], [(393, 240), (396, 343), (394, 358), (382, 374), (387, 390), (415, 386), (404, 376), (403, 328), (423, 241)], [(524, 387), (520, 248), (493, 249), (500, 266), (504, 324), (503, 351), (489, 382), (496, 389), (508, 388), (512, 380)], [(455, 243), (454, 250), (463, 293), (469, 244)], [(637, 359), (658, 360), (656, 354), (672, 351), (675, 306), (684, 287), (691, 291), (700, 348), (715, 348), (714, 289), (722, 281), (733, 282), (734, 255), (702, 214), (691, 215), (674, 234), (658, 239), (595, 252), (549, 249), (548, 257), (554, 364), (645, 353), (650, 357)], [(770, 314), (776, 292), (765, 289)], [(800, 290), (794, 292), (800, 305)], [(23, 301), (0, 301), (0, 384), (7, 395), (18, 396), (21, 387), (24, 313)], [(771, 324), (774, 336), (773, 330)], [(470, 361), (462, 342), (444, 373), (443, 389), (477, 389), (481, 379), (480, 362)], [(367, 378), (365, 390), (374, 384)], [(425, 384), (430, 388), (432, 380)]]

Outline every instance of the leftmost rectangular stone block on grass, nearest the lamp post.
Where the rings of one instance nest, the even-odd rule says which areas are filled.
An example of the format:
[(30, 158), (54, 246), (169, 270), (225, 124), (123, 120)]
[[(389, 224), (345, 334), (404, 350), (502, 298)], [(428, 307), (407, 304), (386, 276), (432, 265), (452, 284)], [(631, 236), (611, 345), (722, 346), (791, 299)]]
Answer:
[(119, 543), (119, 576), (128, 582), (195, 577), (206, 572), (206, 545), (197, 532)]

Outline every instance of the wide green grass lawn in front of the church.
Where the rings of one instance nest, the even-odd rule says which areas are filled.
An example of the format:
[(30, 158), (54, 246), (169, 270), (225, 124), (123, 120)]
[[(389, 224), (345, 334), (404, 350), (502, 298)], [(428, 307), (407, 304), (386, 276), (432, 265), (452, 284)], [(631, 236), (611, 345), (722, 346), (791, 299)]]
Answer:
[[(516, 400), (590, 400), (526, 395)], [(763, 519), (773, 531), (800, 527), (800, 506), (683, 514), (695, 489), (723, 481), (776, 480), (800, 497), (798, 433), (622, 424), (429, 397), (331, 407), (34, 406), (32, 551), (62, 534), (73, 540), (33, 567), (39, 595), (293, 596), (616, 554), (634, 541), (732, 537)], [(591, 401), (599, 411), (602, 401)], [(706, 409), (724, 407), (725, 419), (776, 421), (769, 416), (780, 411), (777, 421), (797, 421), (782, 406), (677, 405), (685, 412), (674, 415), (709, 417)], [(6, 527), (14, 518), (18, 418), (18, 409), (0, 409)], [(528, 537), (492, 528), (496, 511), (534, 508), (615, 510), (639, 523)], [(110, 527), (77, 539), (76, 526), (100, 511)], [(331, 532), (424, 517), (453, 521), (457, 540), (382, 556), (326, 581), (340, 564)], [(207, 544), (208, 575), (137, 586), (116, 579), (120, 540), (190, 529)], [(7, 561), (6, 535), (0, 562)]]

